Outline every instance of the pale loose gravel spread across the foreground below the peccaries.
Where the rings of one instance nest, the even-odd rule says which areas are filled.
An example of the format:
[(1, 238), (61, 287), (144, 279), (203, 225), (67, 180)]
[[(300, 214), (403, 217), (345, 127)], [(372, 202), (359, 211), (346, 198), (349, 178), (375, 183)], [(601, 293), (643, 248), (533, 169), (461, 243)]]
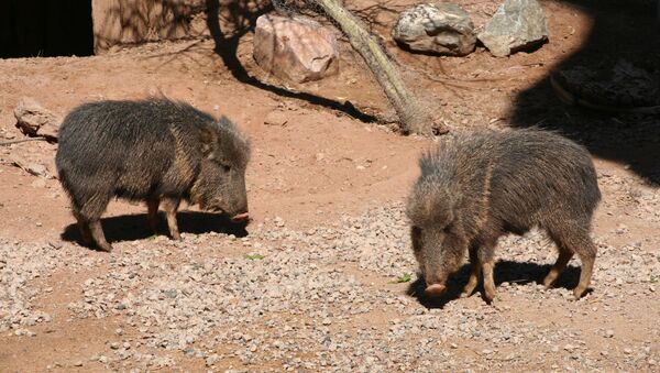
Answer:
[[(600, 177), (630, 215), (660, 221), (659, 190)], [(418, 297), (403, 210), (377, 207), (307, 231), (274, 218), (244, 238), (157, 237), (117, 242), (109, 255), (73, 243), (0, 241), (0, 332), (26, 338), (52, 322), (35, 305), (53, 292), (47, 278), (64, 271), (89, 274), (68, 304), (69, 321), (121, 323), (103, 353), (70, 366), (177, 370), (191, 360), (210, 371), (660, 370), (660, 238), (631, 237), (623, 224), (595, 237), (594, 292), (573, 301), (579, 261), (543, 290), (536, 281), (553, 263), (553, 246), (537, 231), (507, 237), (493, 306), (459, 297), (466, 268), (448, 297), (430, 300)]]

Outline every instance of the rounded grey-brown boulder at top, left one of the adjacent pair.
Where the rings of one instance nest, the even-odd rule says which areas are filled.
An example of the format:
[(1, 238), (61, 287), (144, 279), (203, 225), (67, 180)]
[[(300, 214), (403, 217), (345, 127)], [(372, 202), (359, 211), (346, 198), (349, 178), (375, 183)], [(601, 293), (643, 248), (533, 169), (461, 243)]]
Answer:
[(403, 11), (392, 36), (411, 51), (463, 56), (474, 51), (470, 14), (453, 3), (418, 4)]

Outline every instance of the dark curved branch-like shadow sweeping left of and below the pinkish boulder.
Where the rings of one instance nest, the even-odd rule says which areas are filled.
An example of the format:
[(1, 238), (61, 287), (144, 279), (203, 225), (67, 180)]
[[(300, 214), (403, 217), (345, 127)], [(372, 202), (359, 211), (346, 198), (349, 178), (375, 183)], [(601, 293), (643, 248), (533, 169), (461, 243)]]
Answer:
[[(254, 30), (256, 19), (262, 14), (273, 11), (274, 8), (270, 1), (257, 2), (257, 7), (249, 4), (254, 4), (254, 2), (240, 0), (228, 1), (221, 4), (219, 0), (206, 0), (207, 26), (216, 43), (215, 51), (222, 58), (224, 65), (237, 80), (280, 97), (294, 98), (341, 111), (363, 122), (374, 122), (376, 120), (375, 117), (360, 111), (349, 101), (339, 102), (307, 92), (294, 92), (277, 86), (265, 84), (251, 76), (238, 57), (239, 43), (241, 42), (241, 37)], [(221, 29), (221, 14), (224, 14), (226, 19), (223, 23), (229, 24), (230, 30), (223, 31)]]

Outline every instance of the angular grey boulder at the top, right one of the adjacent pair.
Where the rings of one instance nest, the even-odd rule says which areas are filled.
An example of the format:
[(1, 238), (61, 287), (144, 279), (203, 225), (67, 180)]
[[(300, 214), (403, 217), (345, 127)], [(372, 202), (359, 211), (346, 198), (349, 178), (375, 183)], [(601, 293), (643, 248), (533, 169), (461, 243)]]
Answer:
[(539, 45), (548, 40), (548, 20), (536, 0), (506, 0), (477, 35), (496, 57)]

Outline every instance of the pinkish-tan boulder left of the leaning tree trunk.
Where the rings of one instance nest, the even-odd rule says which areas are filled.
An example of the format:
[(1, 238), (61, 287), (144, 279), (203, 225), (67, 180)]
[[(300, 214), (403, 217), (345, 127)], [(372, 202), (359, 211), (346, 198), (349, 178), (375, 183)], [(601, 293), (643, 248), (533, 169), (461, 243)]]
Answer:
[(334, 33), (302, 17), (260, 17), (253, 55), (264, 70), (295, 83), (319, 80), (339, 72)]

